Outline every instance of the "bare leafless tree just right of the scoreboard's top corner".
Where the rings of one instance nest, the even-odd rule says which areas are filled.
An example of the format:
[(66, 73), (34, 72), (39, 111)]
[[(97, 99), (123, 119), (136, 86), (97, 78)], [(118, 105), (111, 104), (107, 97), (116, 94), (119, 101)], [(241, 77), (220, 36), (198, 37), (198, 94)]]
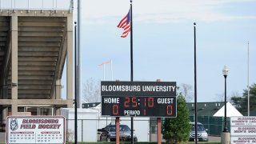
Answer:
[(182, 95), (184, 96), (184, 98), (186, 99), (186, 102), (191, 102), (194, 97), (192, 86), (186, 83), (182, 83), (179, 86), (179, 89)]

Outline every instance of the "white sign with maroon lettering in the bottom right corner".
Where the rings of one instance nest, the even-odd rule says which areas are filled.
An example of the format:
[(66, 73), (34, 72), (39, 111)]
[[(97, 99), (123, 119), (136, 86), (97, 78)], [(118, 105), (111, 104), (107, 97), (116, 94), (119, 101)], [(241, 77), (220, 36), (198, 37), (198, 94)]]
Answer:
[(256, 143), (256, 117), (231, 117), (231, 144)]

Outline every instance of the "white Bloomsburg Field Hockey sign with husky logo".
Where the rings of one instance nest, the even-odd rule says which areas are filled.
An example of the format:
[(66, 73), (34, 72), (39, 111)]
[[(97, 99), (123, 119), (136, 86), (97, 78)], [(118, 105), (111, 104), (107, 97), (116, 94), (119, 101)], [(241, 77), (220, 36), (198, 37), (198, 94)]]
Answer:
[(65, 130), (63, 116), (9, 116), (6, 143), (65, 143)]

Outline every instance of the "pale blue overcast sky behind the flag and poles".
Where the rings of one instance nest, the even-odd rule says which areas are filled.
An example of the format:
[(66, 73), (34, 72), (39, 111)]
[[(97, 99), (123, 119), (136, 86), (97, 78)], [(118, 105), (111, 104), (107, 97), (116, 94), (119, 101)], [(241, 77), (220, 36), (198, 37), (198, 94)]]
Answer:
[[(64, 3), (37, 1), (40, 2), (45, 7)], [(222, 100), (218, 95), (224, 92), (224, 65), (230, 69), (227, 95), (234, 92), (242, 95), (248, 76), (247, 42), (250, 42), (250, 85), (256, 82), (255, 6), (255, 0), (134, 0), (134, 81), (160, 78), (177, 82), (178, 86), (186, 83), (194, 87), (193, 23), (196, 22), (198, 102)], [(110, 59), (114, 80), (130, 81), (130, 34), (120, 38), (122, 30), (117, 28), (130, 8), (130, 0), (81, 0), (81, 7), (82, 84), (88, 78), (103, 80), (103, 68), (98, 64)], [(63, 85), (65, 74), (64, 71)], [(111, 80), (110, 64), (106, 65), (106, 80)], [(66, 91), (62, 94), (65, 96)]]

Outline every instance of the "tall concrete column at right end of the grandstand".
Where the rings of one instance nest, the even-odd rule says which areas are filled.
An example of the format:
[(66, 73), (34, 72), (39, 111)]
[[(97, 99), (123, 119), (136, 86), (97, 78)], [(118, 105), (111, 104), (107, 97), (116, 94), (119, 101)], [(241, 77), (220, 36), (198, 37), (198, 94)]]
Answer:
[(67, 17), (67, 30), (66, 30), (66, 46), (67, 46), (67, 54), (66, 54), (66, 100), (67, 107), (73, 107), (73, 98), (74, 98), (74, 58), (73, 58), (73, 18), (72, 16)]

